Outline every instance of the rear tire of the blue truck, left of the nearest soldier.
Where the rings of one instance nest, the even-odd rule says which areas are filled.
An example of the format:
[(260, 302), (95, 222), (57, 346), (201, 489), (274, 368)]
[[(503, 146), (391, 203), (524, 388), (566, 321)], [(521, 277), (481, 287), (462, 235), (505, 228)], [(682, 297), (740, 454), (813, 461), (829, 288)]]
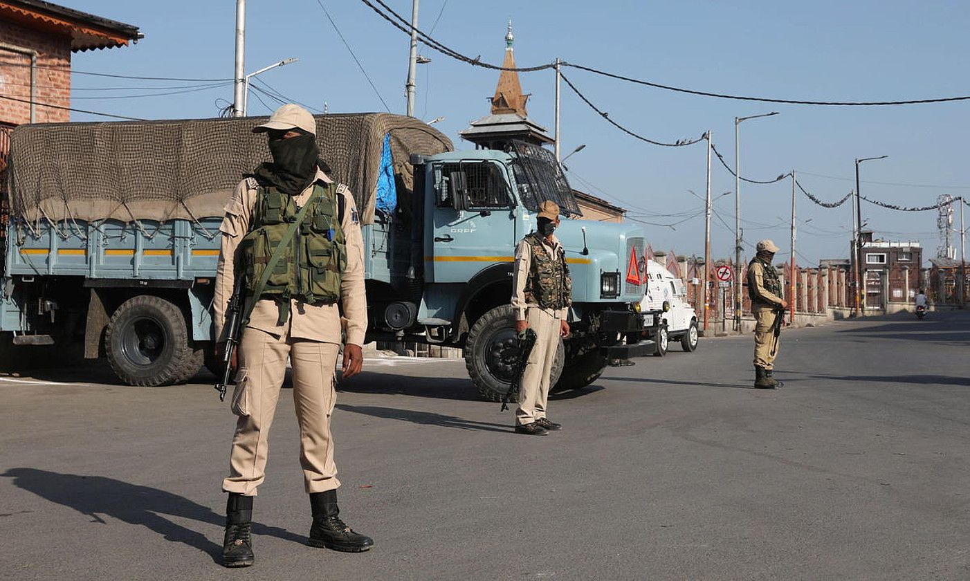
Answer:
[(118, 307), (105, 334), (108, 362), (128, 385), (184, 383), (202, 369), (204, 349), (189, 342), (185, 315), (161, 297), (140, 295)]

